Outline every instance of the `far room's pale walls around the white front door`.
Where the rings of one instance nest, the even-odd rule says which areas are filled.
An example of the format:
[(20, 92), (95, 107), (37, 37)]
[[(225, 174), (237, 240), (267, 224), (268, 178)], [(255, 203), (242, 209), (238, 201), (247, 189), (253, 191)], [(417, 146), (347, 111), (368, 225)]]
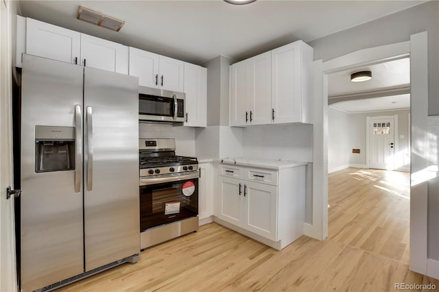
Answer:
[[(398, 133), (395, 133), (396, 170), (410, 168), (409, 150), (410, 110), (346, 113), (329, 107), (328, 110), (328, 171), (337, 171), (348, 165), (366, 165), (366, 117), (398, 115)], [(401, 136), (402, 135), (402, 136)], [(360, 149), (353, 154), (352, 149)]]

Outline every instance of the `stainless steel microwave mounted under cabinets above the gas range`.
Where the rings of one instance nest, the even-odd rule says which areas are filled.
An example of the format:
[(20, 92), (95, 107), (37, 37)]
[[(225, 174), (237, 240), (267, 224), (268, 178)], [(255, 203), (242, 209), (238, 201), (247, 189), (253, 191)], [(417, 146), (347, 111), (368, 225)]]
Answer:
[(139, 86), (139, 120), (184, 122), (185, 93)]

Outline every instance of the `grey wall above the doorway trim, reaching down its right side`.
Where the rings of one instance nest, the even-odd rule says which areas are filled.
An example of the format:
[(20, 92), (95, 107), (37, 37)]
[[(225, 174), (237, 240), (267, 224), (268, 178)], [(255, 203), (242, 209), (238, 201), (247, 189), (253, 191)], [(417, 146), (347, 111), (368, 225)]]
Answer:
[[(439, 114), (439, 1), (428, 1), (341, 32), (308, 42), (314, 60), (324, 61), (360, 49), (390, 45), (410, 39), (410, 35), (428, 32), (429, 115)], [(414, 97), (416, 101), (416, 97)]]

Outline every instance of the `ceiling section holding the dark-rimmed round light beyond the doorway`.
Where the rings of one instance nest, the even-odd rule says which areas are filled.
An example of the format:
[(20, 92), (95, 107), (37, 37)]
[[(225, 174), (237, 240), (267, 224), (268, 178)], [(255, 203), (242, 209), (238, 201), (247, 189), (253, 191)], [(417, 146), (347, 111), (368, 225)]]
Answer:
[[(358, 71), (372, 71), (372, 79), (365, 82), (351, 82), (351, 74)], [(407, 86), (410, 86), (410, 58), (364, 66), (328, 75), (329, 97)]]

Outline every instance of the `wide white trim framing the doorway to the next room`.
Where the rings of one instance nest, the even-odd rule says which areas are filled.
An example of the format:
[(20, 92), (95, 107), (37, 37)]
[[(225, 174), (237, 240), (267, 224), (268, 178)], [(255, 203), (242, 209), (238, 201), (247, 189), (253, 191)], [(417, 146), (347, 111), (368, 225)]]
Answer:
[[(411, 188), (410, 188), (410, 269), (427, 274), (427, 186), (416, 174), (427, 169), (428, 55), (427, 32), (392, 45), (361, 49), (327, 62), (313, 62), (313, 224), (305, 224), (305, 234), (328, 236), (328, 95), (327, 75), (366, 64), (398, 60), (410, 56), (411, 95)], [(419, 130), (420, 129), (420, 130)], [(418, 178), (422, 175), (418, 175)], [(312, 235), (311, 235), (312, 234)], [(439, 275), (438, 275), (439, 276)]]

